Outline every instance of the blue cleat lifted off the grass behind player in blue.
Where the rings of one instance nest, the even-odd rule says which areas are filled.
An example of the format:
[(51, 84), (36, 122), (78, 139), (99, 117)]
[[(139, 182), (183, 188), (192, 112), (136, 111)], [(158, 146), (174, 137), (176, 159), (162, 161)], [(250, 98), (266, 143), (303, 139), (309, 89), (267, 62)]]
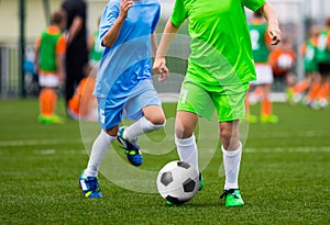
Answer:
[(143, 161), (142, 153), (140, 150), (140, 146), (136, 144), (136, 139), (132, 140), (132, 142), (128, 140), (127, 138), (123, 137), (123, 132), (124, 132), (124, 127), (121, 126), (119, 128), (117, 138), (120, 142), (120, 144), (122, 145), (122, 148), (125, 149), (125, 154), (127, 154), (129, 161), (133, 166), (142, 165), (142, 161)]

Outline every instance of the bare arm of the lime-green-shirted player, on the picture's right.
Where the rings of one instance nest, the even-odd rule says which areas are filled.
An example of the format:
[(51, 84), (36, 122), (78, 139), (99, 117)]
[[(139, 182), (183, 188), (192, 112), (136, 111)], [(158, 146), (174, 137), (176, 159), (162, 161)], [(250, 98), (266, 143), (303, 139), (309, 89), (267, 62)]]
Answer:
[(266, 2), (258, 9), (258, 11), (264, 15), (264, 18), (267, 21), (268, 35), (272, 40), (271, 44), (277, 45), (280, 42), (282, 33), (273, 7), (268, 2)]

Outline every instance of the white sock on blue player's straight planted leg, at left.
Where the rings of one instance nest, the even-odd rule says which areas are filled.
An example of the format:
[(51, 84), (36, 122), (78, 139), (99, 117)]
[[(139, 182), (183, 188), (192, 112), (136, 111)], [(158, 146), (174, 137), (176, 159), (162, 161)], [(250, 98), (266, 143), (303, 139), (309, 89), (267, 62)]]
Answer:
[(117, 137), (108, 135), (105, 131), (101, 131), (99, 136), (94, 140), (88, 166), (85, 172), (86, 177), (98, 177), (98, 171), (101, 161)]

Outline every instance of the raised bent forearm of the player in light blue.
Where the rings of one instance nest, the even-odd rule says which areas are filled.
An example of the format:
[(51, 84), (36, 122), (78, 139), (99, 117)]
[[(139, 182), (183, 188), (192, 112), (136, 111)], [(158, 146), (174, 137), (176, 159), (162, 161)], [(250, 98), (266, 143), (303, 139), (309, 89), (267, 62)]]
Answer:
[(106, 33), (103, 37), (102, 43), (106, 47), (111, 47), (113, 43), (117, 41), (121, 26), (128, 16), (129, 10), (133, 5), (134, 5), (134, 1), (132, 0), (121, 0), (119, 15), (116, 22), (113, 23), (113, 25), (111, 26), (111, 29), (109, 29), (109, 31)]

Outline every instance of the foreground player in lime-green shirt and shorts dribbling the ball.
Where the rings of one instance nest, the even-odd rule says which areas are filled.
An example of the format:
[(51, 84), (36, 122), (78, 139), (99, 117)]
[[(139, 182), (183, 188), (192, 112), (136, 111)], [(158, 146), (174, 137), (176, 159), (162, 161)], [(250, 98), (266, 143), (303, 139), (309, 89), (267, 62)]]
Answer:
[(265, 16), (272, 44), (278, 44), (278, 22), (265, 0), (176, 0), (153, 67), (158, 80), (167, 78), (165, 55), (175, 36), (172, 34), (189, 18), (191, 53), (177, 105), (175, 143), (180, 160), (199, 170), (194, 130), (199, 116), (211, 119), (216, 109), (226, 171), (221, 196), (227, 206), (244, 204), (238, 184), (242, 153), (239, 120), (244, 119), (249, 82), (255, 80), (244, 7)]

